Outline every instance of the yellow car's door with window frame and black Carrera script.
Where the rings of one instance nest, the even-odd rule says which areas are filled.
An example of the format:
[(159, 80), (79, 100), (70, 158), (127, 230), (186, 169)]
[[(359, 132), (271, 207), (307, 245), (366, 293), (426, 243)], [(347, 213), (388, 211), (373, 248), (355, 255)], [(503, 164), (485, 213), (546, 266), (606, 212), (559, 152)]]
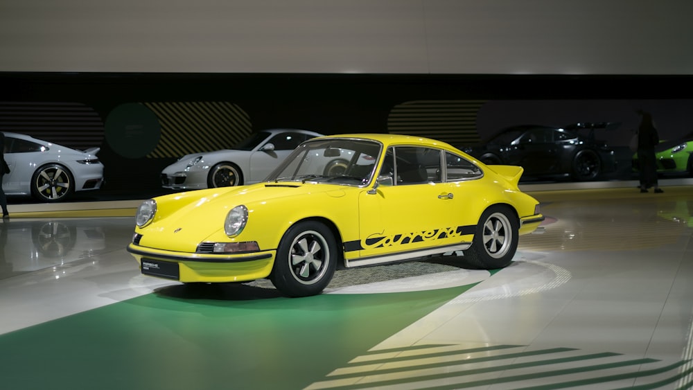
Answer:
[(415, 251), (449, 241), (455, 190), (442, 182), (440, 172), (441, 150), (410, 146), (387, 150), (376, 190), (362, 192), (359, 199), (361, 258), (415, 256)]

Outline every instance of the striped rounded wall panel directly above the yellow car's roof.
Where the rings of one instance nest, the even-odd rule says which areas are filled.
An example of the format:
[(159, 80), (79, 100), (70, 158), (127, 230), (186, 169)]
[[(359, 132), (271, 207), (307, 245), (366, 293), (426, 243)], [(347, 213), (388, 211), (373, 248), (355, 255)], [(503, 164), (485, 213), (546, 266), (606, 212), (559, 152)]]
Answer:
[(412, 100), (392, 108), (387, 131), (426, 136), (455, 146), (480, 141), (477, 113), (486, 100)]

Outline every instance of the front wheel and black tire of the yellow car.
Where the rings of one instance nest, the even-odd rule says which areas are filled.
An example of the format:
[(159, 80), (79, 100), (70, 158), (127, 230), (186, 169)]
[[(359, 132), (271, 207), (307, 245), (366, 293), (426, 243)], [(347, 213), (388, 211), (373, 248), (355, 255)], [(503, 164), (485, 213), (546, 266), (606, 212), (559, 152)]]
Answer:
[(299, 222), (281, 238), (270, 280), (285, 296), (319, 294), (332, 280), (338, 257), (337, 242), (328, 227)]

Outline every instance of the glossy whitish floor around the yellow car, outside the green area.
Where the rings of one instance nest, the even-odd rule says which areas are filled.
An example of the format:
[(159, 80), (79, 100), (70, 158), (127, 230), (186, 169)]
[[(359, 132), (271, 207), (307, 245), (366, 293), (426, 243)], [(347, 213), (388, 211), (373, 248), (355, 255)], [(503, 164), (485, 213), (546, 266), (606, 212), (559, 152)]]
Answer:
[[(477, 283), (308, 389), (691, 388), (693, 181), (662, 184), (663, 194), (631, 182), (523, 186), (547, 221), (510, 267), (331, 287)], [(141, 276), (125, 252), (132, 222), (5, 222), (0, 335), (170, 285)]]

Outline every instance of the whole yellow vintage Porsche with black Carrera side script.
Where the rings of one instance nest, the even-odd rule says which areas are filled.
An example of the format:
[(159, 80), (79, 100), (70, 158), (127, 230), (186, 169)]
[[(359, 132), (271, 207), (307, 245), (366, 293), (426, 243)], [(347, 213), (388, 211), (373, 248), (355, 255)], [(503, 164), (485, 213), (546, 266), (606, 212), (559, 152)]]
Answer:
[(269, 278), (286, 296), (319, 294), (337, 267), (446, 255), (497, 269), (544, 219), (522, 172), (415, 136), (318, 137), (260, 183), (146, 200), (128, 251), (146, 275)]

